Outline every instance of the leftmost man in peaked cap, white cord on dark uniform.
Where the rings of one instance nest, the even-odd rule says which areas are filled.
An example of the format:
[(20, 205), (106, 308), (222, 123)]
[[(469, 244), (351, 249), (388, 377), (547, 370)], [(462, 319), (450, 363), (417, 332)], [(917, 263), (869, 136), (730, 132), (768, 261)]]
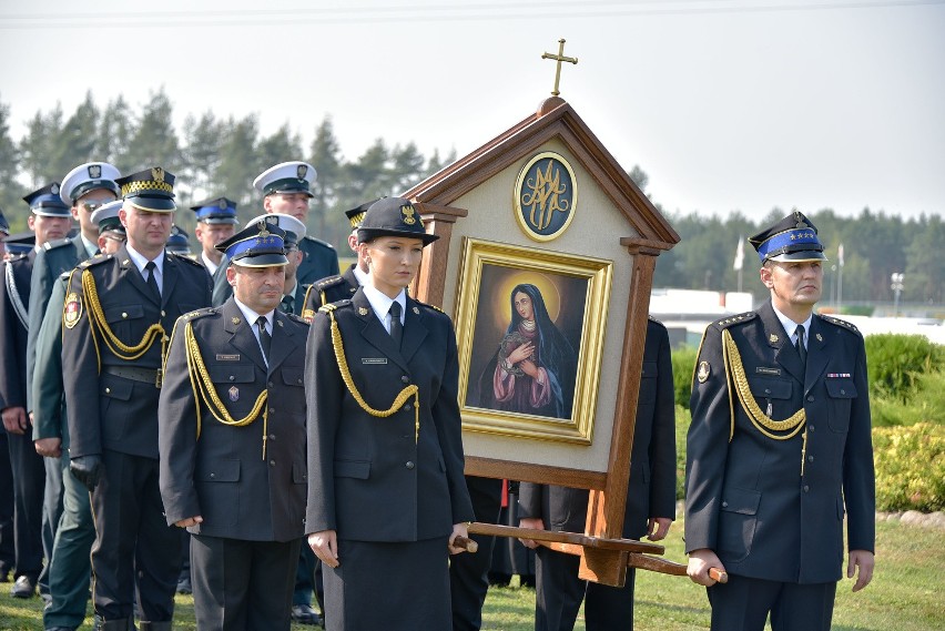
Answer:
[[(40, 578), (43, 559), (43, 488), (45, 471), (42, 458), (33, 449), (27, 391), (27, 340), (30, 328), (30, 278), (37, 250), (48, 241), (62, 238), (72, 216), (59, 197), (59, 183), (33, 191), (23, 201), (30, 206), (29, 226), (34, 233), (34, 247), (29, 254), (6, 263), (0, 284), (0, 409), (7, 429), (16, 502), (17, 582), (12, 596), (30, 598)], [(49, 536), (51, 552), (52, 537)]]

